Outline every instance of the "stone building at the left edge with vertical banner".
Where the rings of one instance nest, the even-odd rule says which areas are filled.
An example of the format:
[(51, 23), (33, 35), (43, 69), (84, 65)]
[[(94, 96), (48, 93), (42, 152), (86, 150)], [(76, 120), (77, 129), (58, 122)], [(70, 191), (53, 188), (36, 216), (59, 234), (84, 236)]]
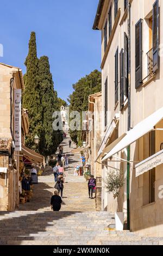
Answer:
[[(18, 180), (20, 151), (15, 149), (14, 90), (23, 90), (23, 75), (19, 68), (0, 63), (0, 210), (14, 210), (19, 204)], [(22, 113), (24, 118), (24, 113)], [(21, 119), (21, 113), (20, 113)], [(20, 127), (24, 131), (24, 126)], [(22, 133), (21, 133), (21, 136)], [(23, 139), (23, 138), (22, 138)]]

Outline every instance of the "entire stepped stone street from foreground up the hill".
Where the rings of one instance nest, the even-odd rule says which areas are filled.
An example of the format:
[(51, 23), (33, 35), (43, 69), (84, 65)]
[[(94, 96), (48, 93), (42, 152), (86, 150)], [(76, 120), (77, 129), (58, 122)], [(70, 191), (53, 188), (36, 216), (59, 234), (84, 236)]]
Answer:
[[(62, 145), (64, 154), (70, 155), (68, 138)], [(78, 162), (79, 155), (70, 155), (59, 212), (53, 212), (49, 205), (54, 192), (52, 170), (39, 176), (29, 203), (13, 212), (0, 212), (0, 245), (163, 245), (163, 238), (106, 230), (112, 215), (97, 212), (95, 200), (88, 198), (84, 177), (73, 176)]]

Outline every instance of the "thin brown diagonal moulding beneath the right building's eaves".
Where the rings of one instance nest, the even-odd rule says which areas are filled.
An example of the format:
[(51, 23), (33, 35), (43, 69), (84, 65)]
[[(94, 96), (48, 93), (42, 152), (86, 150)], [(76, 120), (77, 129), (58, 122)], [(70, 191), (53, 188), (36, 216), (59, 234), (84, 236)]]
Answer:
[(117, 13), (117, 16), (116, 16), (116, 19), (115, 19), (115, 22), (114, 22), (114, 26), (112, 27), (112, 31), (111, 31), (111, 35), (110, 35), (110, 38), (109, 38), (109, 41), (108, 41), (108, 45), (106, 47), (106, 51), (104, 53), (104, 57), (103, 57), (103, 60), (102, 60), (101, 69), (104, 68), (105, 61), (106, 61), (106, 58), (108, 56), (108, 52), (109, 52), (109, 49), (110, 49), (110, 46), (111, 46), (111, 42), (114, 38), (114, 34), (115, 34), (116, 28), (118, 26), (118, 21), (120, 20), (120, 16), (121, 16), (121, 8), (118, 9), (118, 13)]

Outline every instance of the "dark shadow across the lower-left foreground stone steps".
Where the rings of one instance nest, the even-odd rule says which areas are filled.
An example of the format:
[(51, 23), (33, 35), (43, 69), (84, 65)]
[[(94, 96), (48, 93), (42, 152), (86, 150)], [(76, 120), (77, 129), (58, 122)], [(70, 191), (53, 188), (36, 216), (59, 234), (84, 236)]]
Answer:
[[(77, 211), (78, 212), (78, 211)], [(62, 218), (76, 214), (74, 211), (46, 211), (37, 212), (35, 214), (22, 215), (16, 218), (5, 218), (5, 220), (0, 221), (0, 245), (12, 245), (15, 241), (17, 245), (21, 245), (21, 241), (39, 241), (39, 237), (31, 234), (37, 234), (40, 231), (47, 231), (46, 228), (53, 227), (55, 222), (61, 221)], [(51, 223), (52, 222), (52, 223)], [(59, 223), (58, 223), (59, 225)], [(51, 229), (52, 231), (55, 230)], [(49, 232), (52, 232), (49, 231)], [(56, 234), (51, 234), (51, 238), (54, 237), (55, 243)], [(10, 239), (9, 239), (10, 237)], [(13, 242), (14, 241), (14, 242)], [(43, 244), (42, 240), (42, 244)]]

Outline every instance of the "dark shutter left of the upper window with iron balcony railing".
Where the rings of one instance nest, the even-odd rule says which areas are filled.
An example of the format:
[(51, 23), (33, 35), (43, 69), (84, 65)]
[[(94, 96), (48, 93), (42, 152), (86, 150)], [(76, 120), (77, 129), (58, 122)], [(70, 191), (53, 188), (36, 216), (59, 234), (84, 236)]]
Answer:
[(142, 82), (142, 20), (135, 25), (135, 88)]

